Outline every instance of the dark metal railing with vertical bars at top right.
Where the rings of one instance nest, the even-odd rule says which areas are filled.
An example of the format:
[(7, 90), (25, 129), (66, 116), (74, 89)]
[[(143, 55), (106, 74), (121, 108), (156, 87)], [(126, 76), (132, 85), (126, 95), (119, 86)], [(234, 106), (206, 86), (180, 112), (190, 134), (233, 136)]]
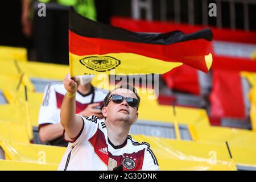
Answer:
[[(156, 0), (131, 0), (131, 15), (134, 19), (140, 19), (141, 10), (144, 9), (146, 11), (146, 19), (152, 20), (153, 19), (153, 2)], [(174, 7), (174, 21), (177, 23), (181, 22), (181, 2), (187, 2), (187, 14), (188, 14), (188, 22), (189, 24), (195, 24), (195, 1), (200, 0), (157, 0), (160, 3), (160, 20), (166, 21), (168, 20), (167, 16), (167, 1), (173, 2), (172, 6)], [(229, 3), (229, 20), (230, 20), (230, 28), (236, 29), (236, 16), (238, 16), (238, 12), (236, 11), (236, 3), (240, 3), (243, 6), (243, 29), (246, 31), (250, 30), (250, 18), (249, 17), (249, 6), (256, 5), (255, 0), (201, 0), (201, 10), (202, 10), (202, 22), (205, 25), (209, 23), (209, 3), (216, 3), (217, 7), (217, 16), (216, 16), (216, 26), (221, 28), (224, 15), (222, 15), (222, 3), (228, 2)]]

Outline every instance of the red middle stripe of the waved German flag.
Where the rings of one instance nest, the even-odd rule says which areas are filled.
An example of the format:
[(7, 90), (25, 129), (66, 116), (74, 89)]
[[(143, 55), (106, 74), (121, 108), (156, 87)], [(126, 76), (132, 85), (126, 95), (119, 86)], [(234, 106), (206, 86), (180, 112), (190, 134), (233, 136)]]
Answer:
[(171, 45), (134, 43), (100, 38), (87, 38), (69, 30), (69, 52), (75, 55), (136, 53), (163, 61), (181, 62), (208, 72), (204, 56), (212, 50), (207, 40), (191, 40)]

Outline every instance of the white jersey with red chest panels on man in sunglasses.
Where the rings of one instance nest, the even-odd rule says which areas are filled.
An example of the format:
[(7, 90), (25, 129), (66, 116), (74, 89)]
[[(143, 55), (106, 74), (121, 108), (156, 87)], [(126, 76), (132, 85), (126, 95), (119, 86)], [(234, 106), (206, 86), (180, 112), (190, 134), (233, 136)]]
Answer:
[(159, 170), (148, 143), (138, 143), (128, 135), (123, 144), (114, 146), (108, 139), (104, 119), (94, 115), (80, 117), (84, 124), (74, 140), (63, 131), (64, 140), (69, 144), (58, 170), (105, 171), (121, 164), (123, 171)]

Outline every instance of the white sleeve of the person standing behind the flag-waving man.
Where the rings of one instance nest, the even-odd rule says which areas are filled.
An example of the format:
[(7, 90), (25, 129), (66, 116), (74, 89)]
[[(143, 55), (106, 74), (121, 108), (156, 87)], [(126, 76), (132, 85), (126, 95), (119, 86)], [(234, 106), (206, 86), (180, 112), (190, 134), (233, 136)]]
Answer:
[(60, 109), (57, 108), (56, 93), (53, 84), (48, 84), (44, 90), (43, 104), (39, 110), (38, 123), (56, 124), (60, 122)]

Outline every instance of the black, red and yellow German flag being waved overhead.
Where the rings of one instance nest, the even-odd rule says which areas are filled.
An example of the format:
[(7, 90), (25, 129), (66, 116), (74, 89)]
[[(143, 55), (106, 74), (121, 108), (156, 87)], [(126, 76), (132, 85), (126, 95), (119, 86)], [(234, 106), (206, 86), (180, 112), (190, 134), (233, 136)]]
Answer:
[(162, 74), (182, 64), (208, 72), (212, 65), (209, 28), (187, 35), (181, 31), (148, 34), (94, 22), (72, 9), (69, 16), (72, 76)]

